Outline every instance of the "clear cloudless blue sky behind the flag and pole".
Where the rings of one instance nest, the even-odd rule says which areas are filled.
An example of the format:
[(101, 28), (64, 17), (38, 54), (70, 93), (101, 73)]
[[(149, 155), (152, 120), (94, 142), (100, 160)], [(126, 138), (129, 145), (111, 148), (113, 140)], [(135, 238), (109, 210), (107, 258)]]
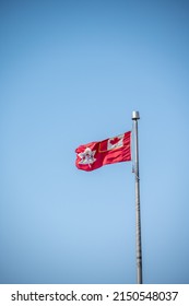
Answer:
[(139, 110), (144, 283), (189, 283), (189, 1), (0, 1), (0, 283), (135, 283), (132, 163), (74, 150)]

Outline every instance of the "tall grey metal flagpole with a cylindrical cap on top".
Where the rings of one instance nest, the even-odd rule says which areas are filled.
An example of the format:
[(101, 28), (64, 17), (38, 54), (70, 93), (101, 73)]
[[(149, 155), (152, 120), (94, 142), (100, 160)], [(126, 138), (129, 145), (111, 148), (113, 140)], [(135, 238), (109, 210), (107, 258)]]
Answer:
[(142, 284), (142, 244), (141, 244), (141, 212), (140, 212), (140, 177), (139, 177), (139, 111), (132, 111), (134, 126), (134, 174), (135, 174), (135, 245), (137, 245), (137, 283)]

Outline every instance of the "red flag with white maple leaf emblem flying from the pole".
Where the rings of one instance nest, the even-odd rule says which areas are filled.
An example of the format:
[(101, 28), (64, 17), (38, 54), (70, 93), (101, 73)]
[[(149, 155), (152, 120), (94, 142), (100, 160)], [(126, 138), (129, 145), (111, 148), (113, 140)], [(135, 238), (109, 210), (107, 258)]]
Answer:
[(104, 165), (131, 161), (131, 131), (98, 142), (80, 145), (75, 165), (79, 169), (92, 172)]

